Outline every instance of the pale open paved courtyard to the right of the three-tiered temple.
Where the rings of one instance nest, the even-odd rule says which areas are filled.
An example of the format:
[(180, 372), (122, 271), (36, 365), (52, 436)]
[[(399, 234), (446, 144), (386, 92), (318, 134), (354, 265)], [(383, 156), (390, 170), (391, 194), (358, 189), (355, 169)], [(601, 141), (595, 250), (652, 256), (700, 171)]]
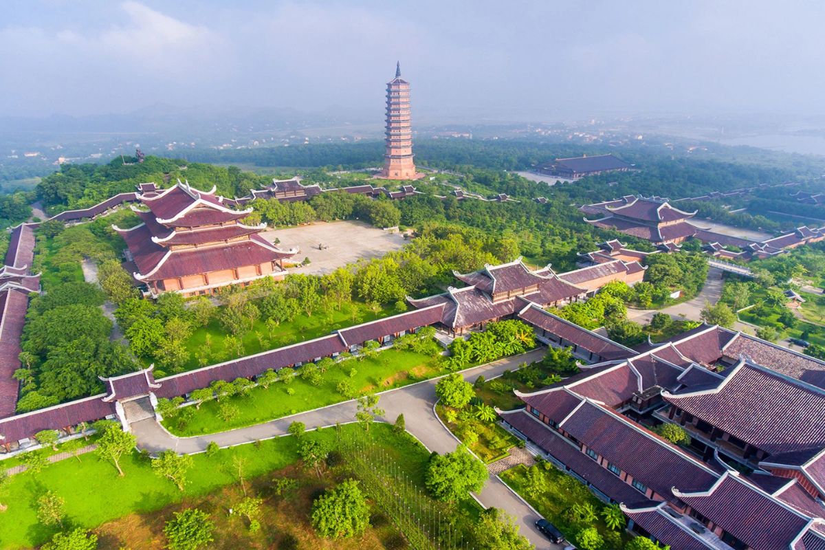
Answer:
[[(309, 266), (291, 272), (323, 275), (361, 258), (384, 256), (403, 247), (407, 240), (401, 233), (391, 233), (362, 222), (317, 222), (297, 228), (272, 229), (261, 233), (269, 242), (281, 239), (282, 248), (298, 247), (295, 261), (309, 257)], [(323, 250), (318, 249), (318, 245)]]

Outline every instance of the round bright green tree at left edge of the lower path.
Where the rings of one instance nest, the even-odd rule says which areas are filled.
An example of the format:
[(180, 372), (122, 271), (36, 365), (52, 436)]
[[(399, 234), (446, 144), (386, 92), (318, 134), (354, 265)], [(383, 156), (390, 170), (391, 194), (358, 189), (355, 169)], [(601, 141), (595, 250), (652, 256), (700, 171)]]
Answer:
[(452, 453), (436, 454), (430, 458), (425, 472), (425, 483), (432, 496), (441, 501), (460, 501), (468, 491), (481, 491), (487, 480), (487, 468), (469, 454), (464, 445)]

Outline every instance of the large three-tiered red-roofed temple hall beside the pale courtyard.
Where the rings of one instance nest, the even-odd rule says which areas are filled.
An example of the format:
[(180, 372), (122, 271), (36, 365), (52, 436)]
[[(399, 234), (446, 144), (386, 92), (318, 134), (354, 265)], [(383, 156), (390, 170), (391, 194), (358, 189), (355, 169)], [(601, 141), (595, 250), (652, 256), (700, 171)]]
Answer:
[(138, 200), (143, 208), (132, 209), (143, 223), (115, 231), (129, 247), (127, 267), (151, 296), (167, 291), (212, 294), (228, 284), (280, 279), (285, 276), (283, 261), (298, 253), (261, 237), (266, 223), (241, 223), (252, 209), (230, 209), (214, 188), (196, 190), (178, 180), (160, 193), (139, 194)]

